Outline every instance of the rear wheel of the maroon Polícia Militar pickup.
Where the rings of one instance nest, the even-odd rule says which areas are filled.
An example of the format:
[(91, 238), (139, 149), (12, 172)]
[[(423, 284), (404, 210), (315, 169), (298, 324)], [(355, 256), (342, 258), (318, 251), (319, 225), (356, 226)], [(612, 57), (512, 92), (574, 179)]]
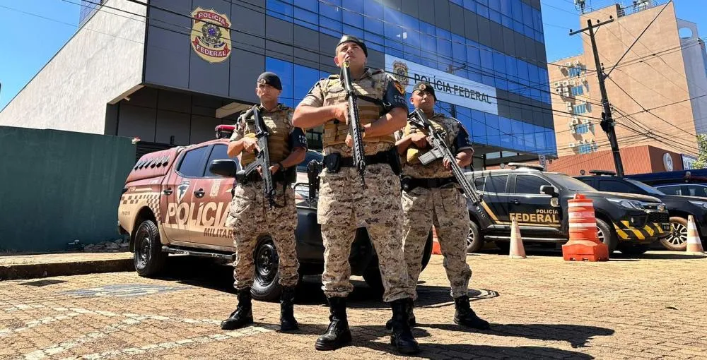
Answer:
[(140, 276), (153, 276), (165, 268), (167, 254), (162, 252), (160, 231), (152, 220), (145, 220), (135, 231), (133, 263)]

